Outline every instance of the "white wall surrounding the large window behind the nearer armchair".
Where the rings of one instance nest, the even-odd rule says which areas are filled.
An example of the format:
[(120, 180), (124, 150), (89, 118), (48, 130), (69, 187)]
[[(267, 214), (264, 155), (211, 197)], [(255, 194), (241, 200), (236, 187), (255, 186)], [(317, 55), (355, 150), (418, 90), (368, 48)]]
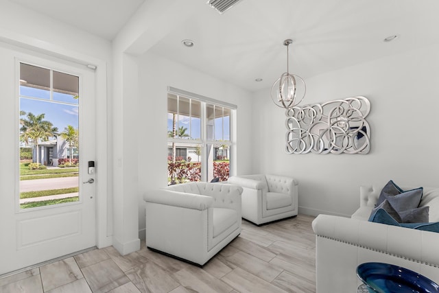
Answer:
[(139, 118), (132, 127), (139, 143), (139, 229), (143, 237), (145, 211), (141, 198), (150, 189), (167, 186), (167, 86), (237, 105), (237, 173), (252, 172), (254, 157), (250, 93), (150, 53), (140, 58), (139, 71)]

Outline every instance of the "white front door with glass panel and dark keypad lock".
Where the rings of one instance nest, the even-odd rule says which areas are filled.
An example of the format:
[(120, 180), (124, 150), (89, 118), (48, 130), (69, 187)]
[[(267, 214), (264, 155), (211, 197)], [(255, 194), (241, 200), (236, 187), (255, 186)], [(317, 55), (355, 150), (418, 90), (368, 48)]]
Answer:
[(0, 64), (4, 274), (96, 245), (96, 123), (93, 69), (3, 43)]

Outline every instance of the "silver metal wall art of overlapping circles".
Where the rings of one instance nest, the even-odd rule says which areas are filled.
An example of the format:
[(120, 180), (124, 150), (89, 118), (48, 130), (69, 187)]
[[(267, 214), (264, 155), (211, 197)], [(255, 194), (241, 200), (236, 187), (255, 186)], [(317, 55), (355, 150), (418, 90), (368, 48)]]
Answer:
[(348, 97), (286, 110), (287, 154), (367, 154), (370, 126), (366, 97)]

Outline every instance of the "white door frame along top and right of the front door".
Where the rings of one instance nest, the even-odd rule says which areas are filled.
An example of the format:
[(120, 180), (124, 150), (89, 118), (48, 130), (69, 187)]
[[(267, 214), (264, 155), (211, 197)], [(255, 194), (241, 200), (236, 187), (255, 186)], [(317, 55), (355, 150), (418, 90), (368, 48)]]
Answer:
[[(40, 40), (21, 34), (16, 34), (5, 29), (0, 29), (0, 41), (3, 43), (17, 46), (23, 49), (34, 51), (36, 54), (46, 54), (67, 61), (82, 64), (84, 66), (93, 65), (95, 69), (95, 98), (96, 98), (96, 156), (95, 161), (99, 172), (96, 173), (96, 246), (98, 248), (112, 245), (112, 194), (110, 191), (109, 176), (112, 174), (108, 165), (108, 155), (110, 144), (108, 143), (107, 116), (107, 66), (105, 60), (86, 56), (69, 49), (58, 47), (57, 45), (41, 42)], [(13, 75), (13, 73), (11, 73)], [(15, 176), (15, 174), (14, 174)], [(12, 196), (12, 195), (11, 195)]]

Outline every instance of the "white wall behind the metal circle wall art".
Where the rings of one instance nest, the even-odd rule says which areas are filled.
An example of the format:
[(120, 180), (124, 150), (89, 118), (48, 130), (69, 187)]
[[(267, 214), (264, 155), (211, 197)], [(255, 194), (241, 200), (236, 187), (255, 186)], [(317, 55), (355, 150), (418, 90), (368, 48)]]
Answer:
[[(270, 91), (256, 94), (253, 154), (258, 172), (293, 176), (299, 213), (349, 216), (359, 207), (359, 186), (438, 186), (439, 45), (308, 78), (302, 104), (355, 95), (371, 103), (369, 154), (286, 154), (285, 111)], [(298, 73), (300, 75), (300, 73)]]

